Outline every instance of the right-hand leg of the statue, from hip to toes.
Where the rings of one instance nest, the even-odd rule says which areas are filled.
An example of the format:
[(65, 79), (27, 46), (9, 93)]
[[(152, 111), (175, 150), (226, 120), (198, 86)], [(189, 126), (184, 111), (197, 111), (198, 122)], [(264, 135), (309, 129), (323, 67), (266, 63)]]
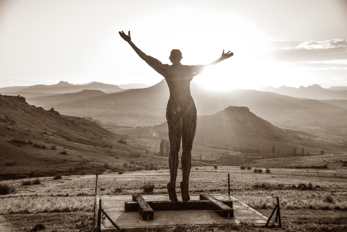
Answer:
[(182, 182), (180, 183), (182, 191), (182, 200), (189, 201), (189, 173), (192, 167), (192, 148), (196, 130), (196, 108), (188, 111), (188, 115), (183, 119), (182, 129)]

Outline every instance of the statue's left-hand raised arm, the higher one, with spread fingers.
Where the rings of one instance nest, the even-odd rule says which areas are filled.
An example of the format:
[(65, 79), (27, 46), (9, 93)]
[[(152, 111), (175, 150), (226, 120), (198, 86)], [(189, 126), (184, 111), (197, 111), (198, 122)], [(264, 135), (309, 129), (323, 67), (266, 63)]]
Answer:
[(126, 42), (128, 42), (130, 46), (134, 49), (134, 51), (137, 53), (137, 55), (141, 57), (141, 59), (143, 59), (149, 66), (151, 66), (160, 75), (165, 74), (163, 64), (158, 59), (155, 59), (151, 56), (147, 56), (143, 51), (141, 51), (138, 47), (135, 46), (135, 44), (131, 41), (130, 31), (128, 32), (128, 35), (125, 34), (124, 31), (118, 33), (120, 37), (123, 38)]

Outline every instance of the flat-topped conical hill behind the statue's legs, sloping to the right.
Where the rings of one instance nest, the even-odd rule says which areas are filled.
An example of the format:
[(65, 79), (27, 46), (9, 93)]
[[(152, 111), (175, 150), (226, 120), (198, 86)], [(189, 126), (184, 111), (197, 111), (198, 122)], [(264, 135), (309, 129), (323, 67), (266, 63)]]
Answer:
[[(167, 122), (157, 126), (109, 130), (146, 139), (158, 146), (161, 139), (169, 140)], [(200, 165), (234, 166), (247, 163), (247, 160), (288, 157), (295, 147), (298, 154), (304, 147), (305, 156), (308, 152), (320, 154), (323, 148), (325, 153), (346, 152), (346, 144), (312, 139), (310, 134), (302, 134), (299, 136), (291, 130), (282, 130), (256, 116), (247, 107), (229, 106), (219, 113), (197, 117), (192, 160)], [(273, 146), (275, 154), (272, 154)]]

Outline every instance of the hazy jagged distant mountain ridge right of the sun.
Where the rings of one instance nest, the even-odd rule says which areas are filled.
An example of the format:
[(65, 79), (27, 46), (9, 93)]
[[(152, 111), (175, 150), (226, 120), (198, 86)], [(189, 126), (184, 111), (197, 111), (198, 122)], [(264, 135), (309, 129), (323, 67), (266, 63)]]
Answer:
[(272, 86), (263, 86), (258, 90), (296, 98), (310, 98), (319, 100), (347, 99), (347, 86), (335, 86), (330, 87), (329, 89), (324, 89), (318, 84), (309, 85), (307, 87), (302, 85), (299, 88), (282, 85), (278, 88), (274, 88)]

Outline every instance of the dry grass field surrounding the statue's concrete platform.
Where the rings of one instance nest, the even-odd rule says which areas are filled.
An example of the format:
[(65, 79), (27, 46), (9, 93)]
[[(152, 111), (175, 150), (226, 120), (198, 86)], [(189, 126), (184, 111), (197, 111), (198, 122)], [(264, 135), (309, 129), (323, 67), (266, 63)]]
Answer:
[[(269, 216), (280, 199), (283, 228), (264, 229), (253, 226), (203, 228), (195, 225), (164, 231), (346, 231), (347, 169), (270, 168), (266, 173), (253, 168), (212, 166), (192, 167), (190, 193), (228, 193)], [(143, 185), (154, 184), (149, 194), (167, 193), (168, 169), (158, 171), (104, 173), (99, 175), (99, 193), (103, 195), (144, 193)], [(34, 181), (34, 179), (25, 179)], [(177, 186), (181, 180), (179, 170)], [(12, 191), (1, 195), (0, 216), (12, 231), (28, 231), (36, 223), (45, 231), (92, 231), (95, 176), (62, 176), (40, 178), (40, 184), (23, 185), (23, 180), (1, 181)], [(311, 184), (310, 184), (311, 183)], [(180, 189), (177, 188), (179, 194)], [(148, 193), (147, 193), (148, 194)], [(237, 215), (235, 215), (237, 216)], [(0, 220), (1, 221), (1, 220)], [(10, 230), (9, 230), (10, 231)]]

